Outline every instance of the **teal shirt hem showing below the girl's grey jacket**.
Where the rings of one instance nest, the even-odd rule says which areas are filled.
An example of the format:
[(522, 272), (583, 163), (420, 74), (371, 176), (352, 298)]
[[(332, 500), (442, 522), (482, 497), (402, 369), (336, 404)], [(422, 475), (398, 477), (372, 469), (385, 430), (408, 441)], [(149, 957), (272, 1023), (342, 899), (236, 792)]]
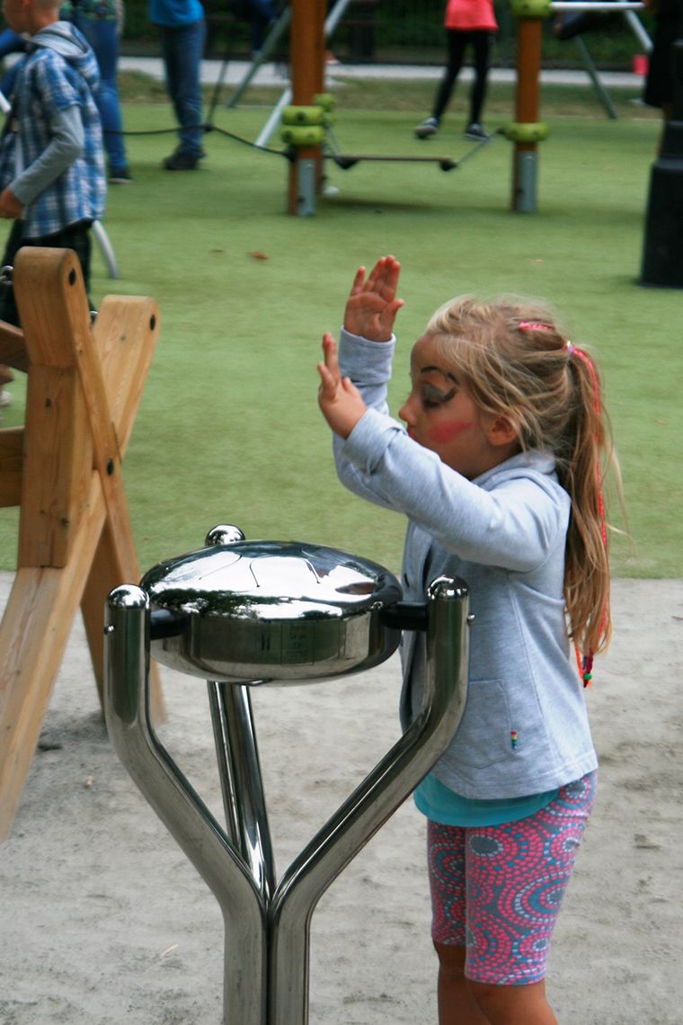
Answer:
[(423, 815), (444, 826), (499, 826), (533, 815), (554, 801), (558, 793), (559, 790), (555, 789), (523, 797), (478, 801), (462, 797), (439, 783), (435, 776), (426, 776), (416, 789), (414, 799)]

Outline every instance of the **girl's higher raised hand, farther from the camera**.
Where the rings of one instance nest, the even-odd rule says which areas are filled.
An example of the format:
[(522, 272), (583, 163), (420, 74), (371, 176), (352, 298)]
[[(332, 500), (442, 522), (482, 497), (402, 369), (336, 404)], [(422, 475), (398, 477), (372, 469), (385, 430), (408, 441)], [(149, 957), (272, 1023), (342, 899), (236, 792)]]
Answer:
[(368, 278), (365, 266), (358, 268), (344, 313), (347, 331), (371, 341), (389, 341), (403, 304), (396, 298), (399, 274), (400, 263), (393, 256), (380, 256)]

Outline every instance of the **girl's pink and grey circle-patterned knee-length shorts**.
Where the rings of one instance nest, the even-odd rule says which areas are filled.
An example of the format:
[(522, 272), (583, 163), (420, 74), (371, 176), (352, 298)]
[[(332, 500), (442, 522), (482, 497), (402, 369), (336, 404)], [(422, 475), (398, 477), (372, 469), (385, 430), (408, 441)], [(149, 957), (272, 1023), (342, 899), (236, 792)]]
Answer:
[(544, 978), (596, 782), (589, 773), (517, 822), (428, 822), (432, 939), (467, 947), (468, 979), (522, 986)]

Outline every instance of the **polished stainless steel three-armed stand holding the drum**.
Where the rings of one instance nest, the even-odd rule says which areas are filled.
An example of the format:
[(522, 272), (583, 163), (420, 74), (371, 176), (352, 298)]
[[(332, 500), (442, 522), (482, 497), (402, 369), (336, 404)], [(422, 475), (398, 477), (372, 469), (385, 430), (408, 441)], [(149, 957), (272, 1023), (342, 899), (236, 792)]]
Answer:
[[(190, 629), (187, 620), (154, 611), (142, 587), (124, 585), (110, 594), (108, 727), (126, 769), (220, 904), (225, 1025), (307, 1023), (309, 929), (319, 897), (426, 775), (460, 722), (467, 690), (468, 602), (462, 582), (441, 578), (430, 585), (424, 606), (398, 602), (381, 610), (379, 617), (391, 630), (426, 630), (423, 706), (275, 885), (249, 700), (248, 684), (256, 681), (208, 685), (224, 829), (161, 744), (150, 719), (151, 640)], [(229, 633), (229, 620), (224, 628)], [(273, 665), (268, 680), (278, 680), (278, 672)]]

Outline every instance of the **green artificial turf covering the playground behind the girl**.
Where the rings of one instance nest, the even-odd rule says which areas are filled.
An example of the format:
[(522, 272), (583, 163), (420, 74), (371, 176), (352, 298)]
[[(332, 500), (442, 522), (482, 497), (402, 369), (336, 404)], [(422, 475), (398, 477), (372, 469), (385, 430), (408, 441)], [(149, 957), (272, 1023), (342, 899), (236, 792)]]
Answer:
[[(168, 104), (139, 101), (144, 91), (139, 83), (135, 90), (126, 128), (172, 127)], [(216, 130), (206, 136), (201, 170), (169, 173), (160, 162), (174, 148), (172, 134), (128, 138), (135, 180), (110, 190), (104, 217), (121, 277), (109, 280), (95, 252), (92, 292), (96, 300), (153, 295), (162, 312), (124, 465), (143, 569), (201, 545), (210, 527), (226, 522), (251, 538), (318, 541), (398, 567), (401, 517), (336, 481), (315, 372), (322, 333), (339, 326), (354, 269), (393, 252), (405, 299), (393, 408), (408, 387), (411, 344), (441, 301), (459, 292), (550, 300), (604, 371), (633, 537), (615, 539), (614, 572), (683, 576), (683, 296), (637, 284), (658, 122), (627, 99), (624, 116), (608, 121), (586, 93), (582, 116), (566, 116), (561, 96), (553, 99), (536, 214), (510, 212), (512, 149), (502, 137), (447, 173), (328, 163), (328, 183), (339, 192), (307, 218), (286, 213), (282, 156)], [(358, 110), (340, 95), (339, 145), (456, 159), (471, 151), (457, 107), (436, 138), (416, 140), (412, 128), (425, 113), (417, 96), (393, 106), (384, 96), (380, 109), (367, 101)], [(509, 90), (493, 97), (490, 127), (509, 119), (511, 102)], [(253, 139), (267, 113), (221, 106), (215, 124)], [(276, 136), (271, 146), (280, 147)], [(20, 381), (12, 392), (5, 424), (23, 419)], [(15, 552), (16, 511), (3, 510), (3, 569), (14, 568)]]

